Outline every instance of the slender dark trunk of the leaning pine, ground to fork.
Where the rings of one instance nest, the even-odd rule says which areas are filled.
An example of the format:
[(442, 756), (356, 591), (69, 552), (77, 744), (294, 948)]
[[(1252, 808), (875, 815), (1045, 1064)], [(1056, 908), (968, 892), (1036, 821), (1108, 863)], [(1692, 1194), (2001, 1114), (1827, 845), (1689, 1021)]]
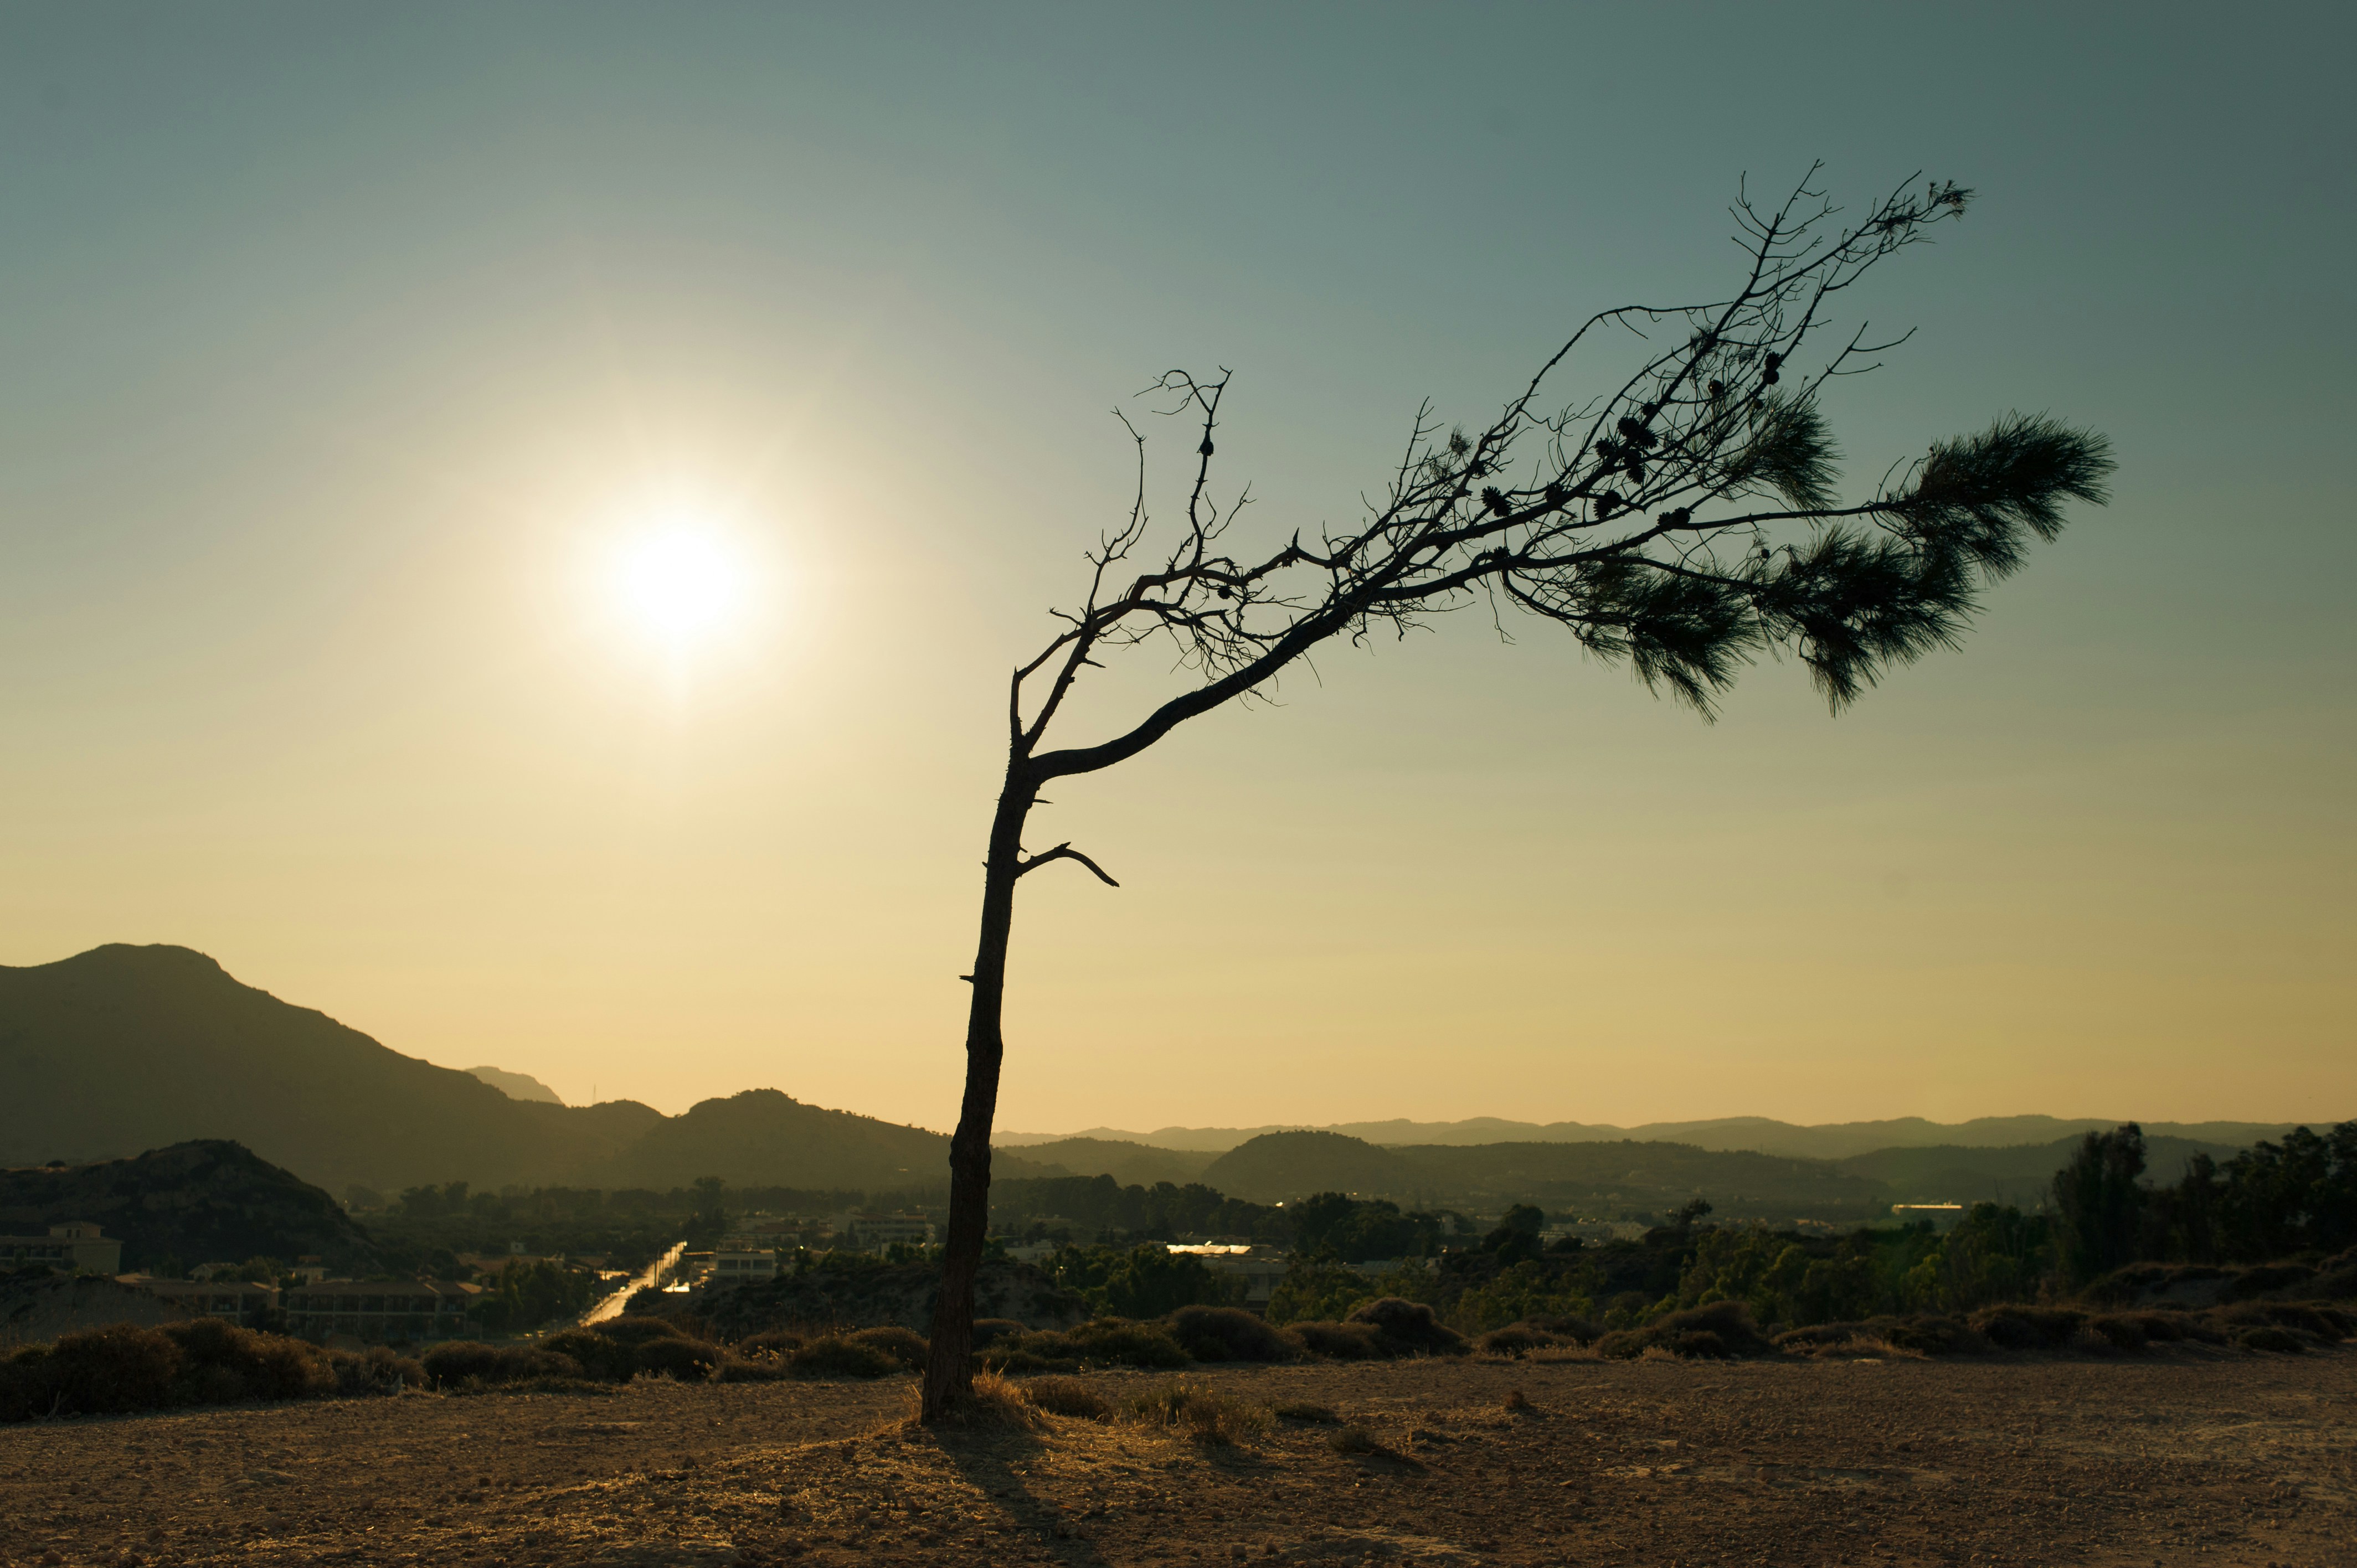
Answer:
[(973, 953), (973, 1004), (966, 1012), (966, 1099), (950, 1139), (950, 1228), (940, 1247), (940, 1299), (924, 1363), (924, 1415), (938, 1422), (973, 1391), (973, 1276), (990, 1231), (990, 1125), (999, 1111), (999, 1009), (1006, 1000), (1006, 936), (1016, 917), (1016, 875), (1023, 858), (1023, 818), (1032, 785), (1021, 757), (1006, 764), (1006, 788), (990, 821), (983, 861), (983, 936)]

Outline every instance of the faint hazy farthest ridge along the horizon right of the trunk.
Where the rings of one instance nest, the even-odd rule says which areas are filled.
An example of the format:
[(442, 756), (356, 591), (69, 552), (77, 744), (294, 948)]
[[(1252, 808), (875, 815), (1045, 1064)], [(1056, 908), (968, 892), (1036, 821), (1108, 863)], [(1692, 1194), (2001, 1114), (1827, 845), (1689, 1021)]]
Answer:
[[(1002, 1132), (1002, 1148), (1032, 1148), (1058, 1141), (1120, 1141), (1148, 1148), (1171, 1148), (1193, 1153), (1226, 1153), (1256, 1137), (1273, 1132), (1339, 1132), (1341, 1137), (1400, 1148), (1407, 1144), (1692, 1144), (1695, 1148), (1754, 1151), (1784, 1155), (1789, 1160), (1846, 1160), (1879, 1148), (2022, 1148), (2044, 1146), (2055, 1139), (2074, 1139), (2084, 1132), (2110, 1132), (2126, 1115), (2107, 1118), (2055, 1118), (2055, 1115), (1985, 1115), (1970, 1122), (1928, 1122), (1919, 1115), (1902, 1115), (1883, 1122), (1824, 1122), (1801, 1127), (1763, 1115), (1725, 1115), (1702, 1122), (1645, 1122), (1640, 1127), (1610, 1127), (1605, 1122), (1508, 1122), (1480, 1115), (1464, 1122), (1332, 1122), (1327, 1127), (1303, 1127), (1287, 1122), (1277, 1127), (1160, 1127), (1155, 1132), (1124, 1132), (1120, 1127), (1089, 1127), (1075, 1134), (1056, 1132)], [(2338, 1118), (2305, 1122), (2324, 1127)], [(2300, 1122), (2145, 1122), (2147, 1137), (2190, 1139), (2197, 1144), (2246, 1148), (2258, 1139), (2279, 1139)]]

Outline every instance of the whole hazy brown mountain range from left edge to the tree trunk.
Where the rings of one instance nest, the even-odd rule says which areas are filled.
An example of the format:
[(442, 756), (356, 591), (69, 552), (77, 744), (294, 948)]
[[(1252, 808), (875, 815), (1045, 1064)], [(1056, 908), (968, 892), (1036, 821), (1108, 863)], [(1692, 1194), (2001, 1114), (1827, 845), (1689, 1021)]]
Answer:
[[(0, 967), (0, 1165), (236, 1139), (330, 1191), (396, 1193), (427, 1181), (674, 1188), (695, 1177), (931, 1188), (948, 1186), (950, 1162), (938, 1132), (775, 1089), (676, 1118), (636, 1101), (511, 1099), (476, 1073), (403, 1056), (240, 986), (189, 948), (108, 946)], [(1058, 1174), (1023, 1155), (1002, 1155), (997, 1170)]]

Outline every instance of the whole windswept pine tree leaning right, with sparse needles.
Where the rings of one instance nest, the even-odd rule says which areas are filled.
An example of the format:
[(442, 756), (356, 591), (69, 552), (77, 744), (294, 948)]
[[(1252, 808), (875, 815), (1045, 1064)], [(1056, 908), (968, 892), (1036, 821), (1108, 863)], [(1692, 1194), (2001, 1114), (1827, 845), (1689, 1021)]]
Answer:
[[(1061, 627), (1009, 681), (926, 1419), (971, 1389), (1016, 884), (1072, 861), (1117, 887), (1072, 844), (1025, 849), (1042, 790), (1266, 691), (1334, 639), (1405, 634), (1475, 606), (1549, 620), (1704, 717), (1765, 653), (1798, 660), (1838, 712), (1888, 670), (1956, 646), (1982, 587), (2060, 533), (2065, 502), (2102, 502), (2112, 469), (2102, 436), (2008, 413), (1933, 441), (1864, 500), (1841, 500), (1820, 396), (1895, 342), (1862, 325), (1838, 332), (1836, 307), (1869, 269), (1968, 205), (1961, 186), (1916, 179), (1853, 224), (1810, 182), (1772, 210), (1739, 198), (1744, 276), (1728, 297), (1591, 316), (1480, 431), (1442, 434), (1431, 408), (1419, 413), (1353, 526), (1296, 531), (1263, 549), (1242, 545), (1237, 507), (1211, 490), (1228, 373), (1157, 382), (1164, 413), (1200, 429), (1183, 521), (1155, 545), (1146, 441), (1131, 427), (1129, 516), (1101, 538), (1080, 601), (1056, 611)], [(1558, 403), (1560, 382), (1622, 354), (1622, 328), (1640, 330), (1633, 363)], [(1113, 733), (1063, 745), (1056, 722), (1077, 681), (1141, 644), (1174, 651), (1190, 686)]]

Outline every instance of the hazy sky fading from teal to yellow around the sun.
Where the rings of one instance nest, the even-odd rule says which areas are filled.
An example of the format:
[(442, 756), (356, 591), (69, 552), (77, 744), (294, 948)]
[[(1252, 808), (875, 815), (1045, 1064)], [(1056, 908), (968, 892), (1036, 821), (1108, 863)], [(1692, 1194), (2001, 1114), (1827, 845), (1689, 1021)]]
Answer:
[[(948, 1127), (1004, 672), (1127, 502), (1108, 410), (1230, 365), (1254, 526), (1348, 521), (1419, 398), (1728, 288), (1737, 179), (1824, 158), (1982, 193), (1855, 302), (1919, 332), (1829, 403), (1853, 486), (2046, 408), (2117, 502), (1841, 719), (1464, 615), (1065, 783), (1035, 835), (1124, 887), (1023, 884), (999, 1125), (2357, 1115), (2352, 50), (2326, 5), (0, 5), (0, 962), (184, 943), (573, 1101)], [(686, 651), (613, 568), (674, 526), (742, 571)]]

